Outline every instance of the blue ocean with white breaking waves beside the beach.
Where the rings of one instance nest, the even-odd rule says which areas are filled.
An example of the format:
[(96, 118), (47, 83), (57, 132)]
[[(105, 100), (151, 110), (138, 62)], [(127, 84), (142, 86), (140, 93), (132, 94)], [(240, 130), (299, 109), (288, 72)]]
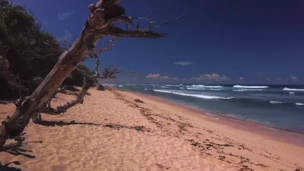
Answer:
[(215, 116), (304, 133), (304, 85), (109, 84), (157, 96)]

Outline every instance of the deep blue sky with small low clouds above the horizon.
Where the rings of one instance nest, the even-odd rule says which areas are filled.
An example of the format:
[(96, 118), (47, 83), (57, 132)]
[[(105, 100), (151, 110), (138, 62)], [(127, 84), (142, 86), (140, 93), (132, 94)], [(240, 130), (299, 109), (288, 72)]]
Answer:
[[(128, 16), (157, 18), (159, 24), (167, 20), (152, 29), (167, 35), (115, 40), (99, 57), (122, 71), (111, 82), (304, 83), (303, 0), (162, 1), (121, 0)], [(43, 31), (72, 41), (87, 19), (87, 5), (96, 1), (14, 2), (30, 9)], [(94, 67), (93, 60), (84, 64)]]

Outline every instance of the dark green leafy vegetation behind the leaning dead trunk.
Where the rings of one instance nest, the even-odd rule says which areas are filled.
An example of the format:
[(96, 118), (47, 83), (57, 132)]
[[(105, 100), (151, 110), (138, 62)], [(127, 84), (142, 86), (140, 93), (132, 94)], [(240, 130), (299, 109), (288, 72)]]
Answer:
[[(0, 42), (8, 48), (8, 69), (24, 82), (35, 76), (45, 77), (63, 52), (52, 35), (41, 31), (41, 24), (32, 13), (8, 0), (0, 0)], [(81, 86), (83, 76), (89, 74), (86, 66), (79, 65), (65, 82)], [(16, 90), (5, 83), (7, 80), (0, 77), (0, 82), (1, 96), (16, 95)]]

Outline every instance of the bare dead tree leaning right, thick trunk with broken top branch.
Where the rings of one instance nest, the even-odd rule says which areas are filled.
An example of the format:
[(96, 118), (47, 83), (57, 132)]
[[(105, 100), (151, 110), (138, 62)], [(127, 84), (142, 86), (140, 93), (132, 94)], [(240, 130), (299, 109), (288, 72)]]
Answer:
[(78, 39), (58, 58), (53, 69), (47, 74), (35, 91), (19, 106), (11, 117), (0, 125), (0, 148), (5, 147), (9, 137), (19, 136), (28, 124), (31, 116), (44, 107), (62, 81), (84, 60), (88, 50), (93, 49), (101, 38), (112, 37), (144, 37), (159, 38), (163, 34), (152, 31), (123, 30), (115, 24), (130, 23), (132, 17), (121, 16), (125, 9), (118, 4), (119, 0), (97, 0), (96, 5), (89, 4), (89, 16)]

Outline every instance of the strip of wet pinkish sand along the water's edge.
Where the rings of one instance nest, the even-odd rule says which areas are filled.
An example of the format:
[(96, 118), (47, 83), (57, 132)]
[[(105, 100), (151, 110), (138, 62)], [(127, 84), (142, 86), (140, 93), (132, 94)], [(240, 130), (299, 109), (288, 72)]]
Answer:
[(279, 129), (276, 127), (266, 126), (266, 125), (258, 123), (258, 122), (242, 120), (242, 119), (224, 116), (224, 115), (209, 114), (203, 109), (192, 107), (192, 106), (187, 106), (185, 104), (171, 101), (168, 99), (164, 99), (161, 97), (144, 94), (144, 93), (140, 93), (140, 92), (136, 92), (136, 91), (129, 91), (129, 90), (124, 90), (124, 91), (135, 94), (135, 95), (139, 94), (139, 95), (141, 95), (145, 98), (151, 99), (151, 100), (156, 100), (159, 102), (164, 102), (169, 105), (175, 105), (175, 106), (179, 106), (181, 108), (185, 108), (195, 114), (207, 116), (204, 118), (207, 118), (208, 120), (210, 120), (212, 122), (225, 124), (225, 125), (228, 125), (233, 128), (237, 128), (240, 130), (245, 130), (245, 131), (249, 131), (252, 133), (259, 134), (259, 135), (267, 136), (273, 140), (279, 140), (279, 141), (291, 143), (291, 144), (294, 144), (297, 146), (304, 146), (304, 133), (302, 133), (302, 132), (283, 130), (283, 129)]

